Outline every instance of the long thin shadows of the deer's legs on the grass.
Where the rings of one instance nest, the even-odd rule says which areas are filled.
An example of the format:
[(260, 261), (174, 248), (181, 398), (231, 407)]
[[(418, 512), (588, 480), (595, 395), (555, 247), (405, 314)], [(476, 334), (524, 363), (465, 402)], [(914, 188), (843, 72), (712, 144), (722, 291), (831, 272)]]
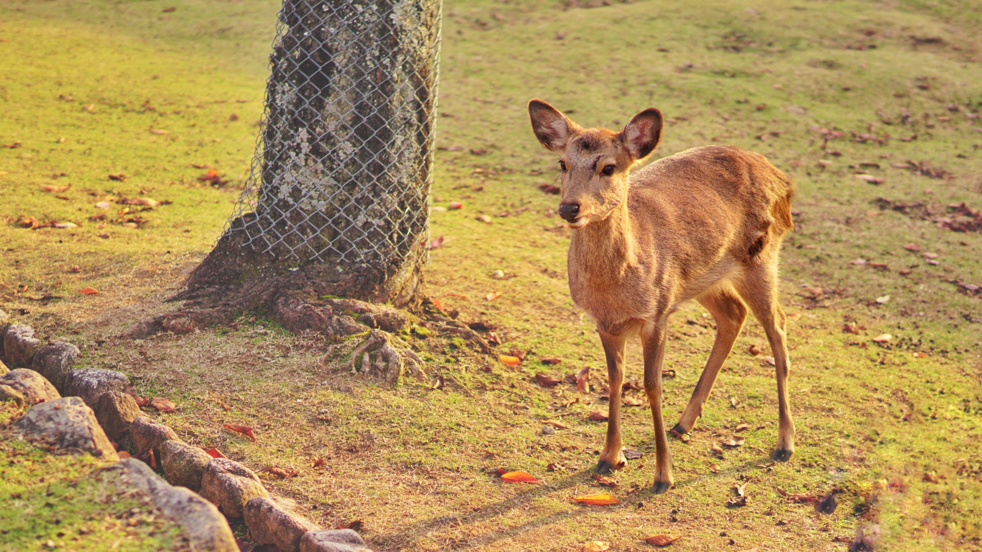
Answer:
[[(747, 469), (757, 468), (761, 464), (769, 464), (772, 462), (770, 456), (765, 455), (761, 459), (746, 461), (742, 464), (738, 464), (728, 469), (721, 469), (718, 473), (708, 473), (702, 475), (696, 475), (691, 478), (685, 479), (684, 481), (677, 482), (674, 489), (684, 488), (694, 483), (701, 482), (706, 479), (722, 479), (724, 477), (733, 476), (737, 473), (746, 471)], [(563, 489), (568, 489), (573, 487), (573, 485), (582, 484), (583, 482), (590, 480), (590, 474), (593, 473), (592, 469), (582, 469), (576, 473), (561, 479), (559, 481), (554, 481), (545, 485), (530, 488), (518, 495), (490, 504), (481, 508), (477, 511), (465, 512), (458, 515), (440, 516), (439, 518), (433, 518), (431, 520), (420, 522), (418, 524), (409, 525), (409, 527), (403, 529), (402, 531), (384, 535), (378, 535), (373, 540), (378, 544), (383, 544), (385, 546), (397, 546), (402, 549), (404, 546), (408, 546), (413, 543), (416, 539), (422, 536), (428, 535), (428, 533), (443, 527), (443, 526), (454, 526), (463, 527), (467, 524), (477, 524), (480, 522), (488, 521), (496, 517), (504, 515), (506, 512), (515, 510), (521, 506), (528, 504), (529, 502), (545, 498), (552, 493), (561, 491)], [(625, 498), (619, 498), (619, 504), (621, 508), (627, 507), (638, 507), (639, 504), (645, 500), (658, 500), (658, 495), (651, 494), (648, 489), (642, 488), (634, 493), (627, 495)], [(519, 534), (535, 529), (544, 525), (556, 524), (564, 520), (570, 519), (573, 516), (581, 514), (588, 508), (606, 508), (604, 506), (588, 506), (588, 505), (578, 505), (580, 508), (567, 512), (557, 512), (547, 516), (542, 516), (534, 520), (528, 521), (524, 524), (519, 524), (514, 527), (509, 527), (501, 530), (491, 531), (479, 536), (475, 536), (471, 539), (460, 540), (455, 545), (450, 546), (450, 548), (474, 548), (478, 546), (485, 546), (499, 540), (507, 540), (514, 538)]]

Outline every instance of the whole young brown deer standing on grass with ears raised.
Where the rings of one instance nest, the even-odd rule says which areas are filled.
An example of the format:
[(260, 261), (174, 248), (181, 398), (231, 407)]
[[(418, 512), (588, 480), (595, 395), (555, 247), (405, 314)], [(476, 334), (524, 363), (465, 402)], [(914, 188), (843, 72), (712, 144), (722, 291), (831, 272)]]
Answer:
[(713, 315), (716, 342), (673, 431), (690, 431), (702, 415), (749, 306), (767, 333), (776, 364), (779, 430), (773, 458), (791, 458), (786, 318), (778, 304), (778, 257), (793, 227), (794, 186), (788, 176), (758, 153), (725, 145), (688, 149), (631, 174), (661, 138), (657, 109), (638, 113), (620, 133), (583, 129), (539, 99), (528, 102), (528, 113), (535, 137), (560, 155), (559, 214), (574, 229), (570, 292), (596, 321), (607, 357), (607, 444), (596, 470), (625, 466), (625, 342), (639, 335), (644, 393), (655, 425), (657, 471), (651, 491), (672, 487), (672, 456), (662, 420), (662, 363), (668, 317), (689, 299)]

